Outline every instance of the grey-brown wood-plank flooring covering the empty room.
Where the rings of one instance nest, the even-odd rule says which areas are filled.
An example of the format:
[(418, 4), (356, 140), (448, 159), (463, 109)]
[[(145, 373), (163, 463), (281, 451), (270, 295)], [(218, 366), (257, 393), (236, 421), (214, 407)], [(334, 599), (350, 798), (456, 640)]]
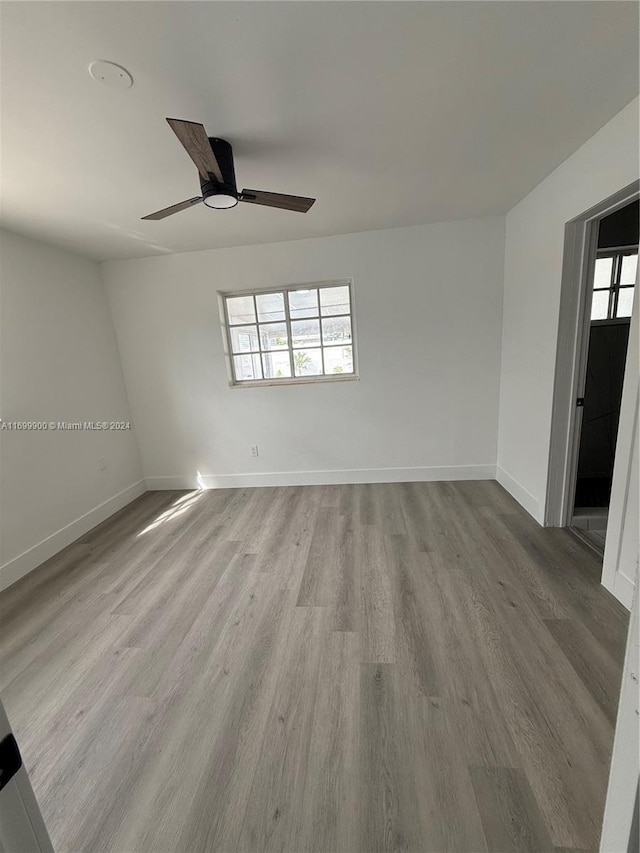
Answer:
[(150, 492), (0, 596), (58, 853), (595, 851), (627, 615), (495, 482)]

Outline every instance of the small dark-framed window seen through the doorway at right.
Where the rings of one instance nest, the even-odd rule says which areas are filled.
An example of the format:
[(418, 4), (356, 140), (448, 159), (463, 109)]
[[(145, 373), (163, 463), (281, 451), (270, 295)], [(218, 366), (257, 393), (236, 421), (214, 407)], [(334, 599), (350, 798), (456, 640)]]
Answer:
[(637, 248), (598, 252), (593, 276), (592, 320), (631, 316), (637, 268)]

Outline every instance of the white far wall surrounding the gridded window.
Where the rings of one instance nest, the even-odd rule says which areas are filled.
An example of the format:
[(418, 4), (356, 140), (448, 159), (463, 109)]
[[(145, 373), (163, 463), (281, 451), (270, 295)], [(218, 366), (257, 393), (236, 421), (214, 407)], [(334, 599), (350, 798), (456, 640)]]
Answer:
[[(500, 217), (104, 264), (149, 487), (493, 477), (503, 243)], [(228, 386), (217, 290), (347, 276), (359, 381)]]

